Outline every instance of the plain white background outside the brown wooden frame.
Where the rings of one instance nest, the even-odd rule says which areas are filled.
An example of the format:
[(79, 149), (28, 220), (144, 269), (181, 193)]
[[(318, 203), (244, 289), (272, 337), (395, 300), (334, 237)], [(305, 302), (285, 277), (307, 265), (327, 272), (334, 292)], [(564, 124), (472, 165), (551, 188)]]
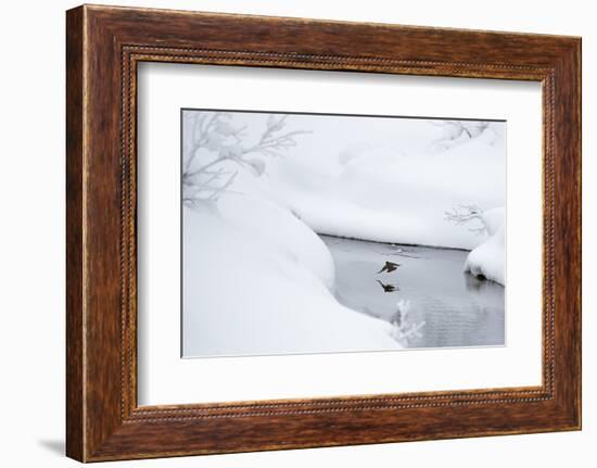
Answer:
[[(338, 2), (321, 0), (128, 1), (119, 4), (392, 22), (583, 36), (584, 430), (583, 432), (290, 451), (109, 464), (158, 467), (593, 466), (597, 458), (597, 31), (592, 3), (503, 0)], [(3, 5), (0, 191), (0, 430), (3, 466), (76, 466), (62, 456), (64, 433), (64, 10), (68, 1)], [(593, 60), (592, 60), (593, 59)], [(590, 83), (593, 81), (593, 83)], [(593, 338), (593, 341), (592, 341)]]

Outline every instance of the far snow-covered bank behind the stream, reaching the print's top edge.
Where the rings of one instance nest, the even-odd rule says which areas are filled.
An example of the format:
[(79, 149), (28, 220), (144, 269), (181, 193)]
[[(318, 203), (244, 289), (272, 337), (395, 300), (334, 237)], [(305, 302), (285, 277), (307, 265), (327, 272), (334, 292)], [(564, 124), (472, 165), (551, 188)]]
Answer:
[[(193, 115), (203, 118), (199, 127)], [(244, 113), (186, 118), (186, 170), (195, 175), (185, 179), (195, 182), (187, 186), (190, 194), (262, 197), (319, 233), (472, 250), (485, 239), (446, 222), (445, 212), (505, 204), (504, 123)]]

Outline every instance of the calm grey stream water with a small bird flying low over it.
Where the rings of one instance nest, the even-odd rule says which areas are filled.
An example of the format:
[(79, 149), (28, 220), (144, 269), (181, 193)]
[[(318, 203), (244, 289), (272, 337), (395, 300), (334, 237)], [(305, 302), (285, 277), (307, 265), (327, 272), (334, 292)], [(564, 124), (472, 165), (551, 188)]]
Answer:
[(467, 251), (321, 238), (338, 300), (392, 324), (405, 347), (505, 344), (504, 288), (463, 273)]

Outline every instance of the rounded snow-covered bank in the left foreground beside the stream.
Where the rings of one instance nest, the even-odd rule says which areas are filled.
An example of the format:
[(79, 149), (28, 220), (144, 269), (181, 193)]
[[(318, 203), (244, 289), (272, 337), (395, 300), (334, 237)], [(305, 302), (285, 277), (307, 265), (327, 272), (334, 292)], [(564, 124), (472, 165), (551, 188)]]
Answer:
[(338, 303), (328, 249), (290, 212), (229, 194), (183, 216), (185, 356), (401, 347), (390, 324)]

